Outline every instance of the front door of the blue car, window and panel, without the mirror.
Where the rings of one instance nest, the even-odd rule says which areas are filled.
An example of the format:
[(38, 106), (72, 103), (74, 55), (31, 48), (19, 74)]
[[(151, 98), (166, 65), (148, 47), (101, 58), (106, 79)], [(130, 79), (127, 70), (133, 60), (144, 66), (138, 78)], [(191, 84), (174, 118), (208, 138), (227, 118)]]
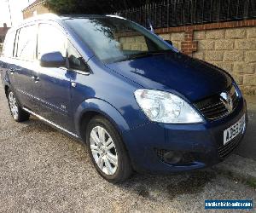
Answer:
[[(38, 60), (41, 55), (61, 52), (66, 58), (67, 35), (61, 26), (52, 23), (40, 23), (38, 28)], [(70, 76), (67, 68), (42, 67), (38, 63), (33, 72), (35, 101), (37, 113), (50, 122), (72, 130), (70, 115)]]

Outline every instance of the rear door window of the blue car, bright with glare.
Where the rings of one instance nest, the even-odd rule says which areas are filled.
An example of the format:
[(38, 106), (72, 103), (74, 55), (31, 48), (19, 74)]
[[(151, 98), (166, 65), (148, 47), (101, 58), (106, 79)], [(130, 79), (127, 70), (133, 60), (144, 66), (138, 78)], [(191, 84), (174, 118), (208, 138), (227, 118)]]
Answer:
[(22, 60), (34, 60), (37, 47), (36, 39), (36, 26), (20, 28), (16, 56)]

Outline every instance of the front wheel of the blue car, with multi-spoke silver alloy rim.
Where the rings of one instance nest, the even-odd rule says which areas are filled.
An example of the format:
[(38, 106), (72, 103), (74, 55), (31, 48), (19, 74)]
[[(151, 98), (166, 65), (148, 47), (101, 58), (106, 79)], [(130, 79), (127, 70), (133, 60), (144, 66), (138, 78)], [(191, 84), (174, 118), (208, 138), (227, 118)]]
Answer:
[(92, 118), (87, 125), (86, 143), (97, 172), (107, 181), (125, 181), (132, 174), (131, 161), (125, 145), (108, 119)]

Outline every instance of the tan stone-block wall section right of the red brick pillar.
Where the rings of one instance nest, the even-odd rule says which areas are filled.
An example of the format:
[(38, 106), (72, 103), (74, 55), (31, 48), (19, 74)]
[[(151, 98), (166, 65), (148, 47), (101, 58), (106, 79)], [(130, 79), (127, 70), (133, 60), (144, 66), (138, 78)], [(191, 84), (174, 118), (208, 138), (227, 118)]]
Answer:
[[(230, 72), (246, 93), (256, 90), (256, 26), (196, 31), (193, 56)], [(254, 91), (253, 91), (254, 90)]]

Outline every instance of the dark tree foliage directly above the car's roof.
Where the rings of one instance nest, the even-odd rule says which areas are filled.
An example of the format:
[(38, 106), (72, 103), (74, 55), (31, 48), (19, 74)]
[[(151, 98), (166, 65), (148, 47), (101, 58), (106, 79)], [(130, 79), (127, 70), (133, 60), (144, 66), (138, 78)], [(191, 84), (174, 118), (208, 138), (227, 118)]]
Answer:
[(57, 14), (109, 14), (138, 7), (149, 0), (47, 0), (46, 5)]

